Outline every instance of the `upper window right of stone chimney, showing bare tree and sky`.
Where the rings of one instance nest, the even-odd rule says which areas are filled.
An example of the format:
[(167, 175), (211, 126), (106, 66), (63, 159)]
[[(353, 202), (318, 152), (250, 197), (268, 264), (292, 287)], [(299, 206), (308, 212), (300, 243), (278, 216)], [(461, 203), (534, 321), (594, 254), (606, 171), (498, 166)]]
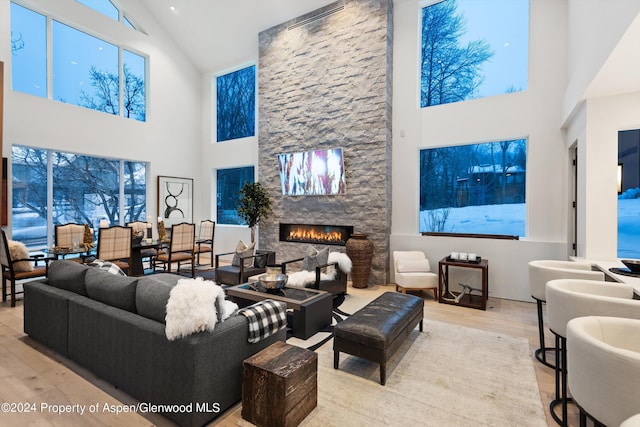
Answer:
[(422, 9), (420, 106), (527, 89), (529, 0), (444, 0)]

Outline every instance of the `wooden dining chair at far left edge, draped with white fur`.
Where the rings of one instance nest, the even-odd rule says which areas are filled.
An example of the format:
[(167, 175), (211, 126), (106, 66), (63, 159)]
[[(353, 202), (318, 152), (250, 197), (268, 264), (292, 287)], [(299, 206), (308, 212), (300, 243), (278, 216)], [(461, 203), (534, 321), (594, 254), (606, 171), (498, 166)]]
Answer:
[[(7, 239), (2, 231), (0, 242), (0, 265), (2, 265), (2, 301), (7, 300), (7, 283), (10, 283), (11, 307), (16, 306), (16, 295), (24, 293), (16, 291), (16, 281), (47, 277), (51, 258), (44, 255), (29, 255), (24, 244)], [(43, 264), (38, 265), (42, 262)]]

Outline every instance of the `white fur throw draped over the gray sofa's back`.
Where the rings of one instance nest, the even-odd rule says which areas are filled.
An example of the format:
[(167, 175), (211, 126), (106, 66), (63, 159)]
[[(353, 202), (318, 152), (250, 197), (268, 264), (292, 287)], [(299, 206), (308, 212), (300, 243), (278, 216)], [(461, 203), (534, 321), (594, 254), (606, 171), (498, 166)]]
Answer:
[(167, 301), (165, 335), (169, 341), (202, 331), (213, 331), (238, 305), (224, 299), (221, 286), (210, 280), (180, 279)]

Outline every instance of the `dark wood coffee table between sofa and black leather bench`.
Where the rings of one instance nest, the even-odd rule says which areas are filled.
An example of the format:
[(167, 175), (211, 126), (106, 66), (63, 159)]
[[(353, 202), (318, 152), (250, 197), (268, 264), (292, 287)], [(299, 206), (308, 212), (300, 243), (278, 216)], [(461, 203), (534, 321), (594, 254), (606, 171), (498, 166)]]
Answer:
[(240, 307), (272, 299), (287, 304), (287, 323), (294, 337), (306, 340), (331, 324), (333, 294), (309, 288), (284, 287), (276, 291), (260, 292), (249, 283), (227, 288), (229, 295)]

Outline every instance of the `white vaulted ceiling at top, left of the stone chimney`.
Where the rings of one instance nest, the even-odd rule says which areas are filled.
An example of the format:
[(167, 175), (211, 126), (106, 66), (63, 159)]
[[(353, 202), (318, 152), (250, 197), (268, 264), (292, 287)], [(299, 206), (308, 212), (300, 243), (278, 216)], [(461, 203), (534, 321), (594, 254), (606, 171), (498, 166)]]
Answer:
[(255, 60), (259, 32), (334, 1), (141, 0), (141, 3), (205, 73)]

